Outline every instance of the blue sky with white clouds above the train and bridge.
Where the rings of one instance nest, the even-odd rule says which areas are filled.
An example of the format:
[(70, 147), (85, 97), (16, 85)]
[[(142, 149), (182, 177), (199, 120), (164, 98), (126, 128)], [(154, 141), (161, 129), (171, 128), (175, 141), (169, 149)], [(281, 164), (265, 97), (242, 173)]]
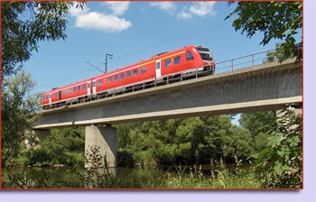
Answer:
[[(40, 42), (24, 69), (37, 80), (36, 92), (49, 91), (188, 45), (209, 47), (216, 62), (275, 47), (260, 45), (224, 20), (236, 5), (227, 2), (88, 2), (70, 9), (65, 41)], [(298, 39), (302, 34), (298, 34)], [(91, 65), (98, 67), (93, 68)]]

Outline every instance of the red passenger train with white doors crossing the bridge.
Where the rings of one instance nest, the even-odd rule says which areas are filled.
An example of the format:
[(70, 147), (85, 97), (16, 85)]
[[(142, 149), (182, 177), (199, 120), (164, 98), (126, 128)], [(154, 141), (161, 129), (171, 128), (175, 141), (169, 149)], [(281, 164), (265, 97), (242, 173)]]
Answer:
[(66, 106), (112, 94), (134, 91), (186, 78), (201, 72), (215, 71), (215, 62), (209, 48), (188, 46), (172, 52), (163, 52), (122, 69), (88, 78), (66, 87), (54, 88), (42, 96), (42, 108)]

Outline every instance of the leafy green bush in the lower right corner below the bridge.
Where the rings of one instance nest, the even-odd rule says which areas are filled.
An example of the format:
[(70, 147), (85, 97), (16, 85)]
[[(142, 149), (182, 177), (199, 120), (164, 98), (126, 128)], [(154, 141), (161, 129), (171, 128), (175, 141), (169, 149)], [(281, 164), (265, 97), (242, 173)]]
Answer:
[(259, 168), (271, 162), (274, 172), (266, 181), (268, 188), (302, 188), (302, 115), (286, 109), (275, 119), (264, 126), (270, 134), (267, 147), (252, 157)]

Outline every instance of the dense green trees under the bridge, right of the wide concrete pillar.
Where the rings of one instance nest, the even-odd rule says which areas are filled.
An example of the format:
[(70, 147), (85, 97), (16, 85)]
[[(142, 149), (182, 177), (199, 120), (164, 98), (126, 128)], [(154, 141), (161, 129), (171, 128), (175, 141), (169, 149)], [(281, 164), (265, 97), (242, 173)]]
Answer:
[[(209, 163), (211, 159), (246, 160), (254, 152), (250, 133), (227, 115), (117, 124), (118, 151), (127, 162)], [(128, 161), (126, 159), (131, 158)]]

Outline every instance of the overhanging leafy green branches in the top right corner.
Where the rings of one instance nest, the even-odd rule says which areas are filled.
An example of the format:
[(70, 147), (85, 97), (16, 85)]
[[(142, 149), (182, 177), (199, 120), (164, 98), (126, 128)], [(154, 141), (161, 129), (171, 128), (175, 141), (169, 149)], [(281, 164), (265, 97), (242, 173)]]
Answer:
[[(235, 2), (229, 2), (229, 5)], [(237, 8), (226, 19), (237, 14), (233, 26), (235, 30), (246, 32), (251, 38), (256, 32), (263, 32), (260, 44), (266, 45), (272, 39), (283, 40), (277, 54), (280, 62), (296, 57), (302, 60), (302, 41), (296, 42), (294, 35), (302, 29), (302, 1), (280, 2), (237, 2)]]

